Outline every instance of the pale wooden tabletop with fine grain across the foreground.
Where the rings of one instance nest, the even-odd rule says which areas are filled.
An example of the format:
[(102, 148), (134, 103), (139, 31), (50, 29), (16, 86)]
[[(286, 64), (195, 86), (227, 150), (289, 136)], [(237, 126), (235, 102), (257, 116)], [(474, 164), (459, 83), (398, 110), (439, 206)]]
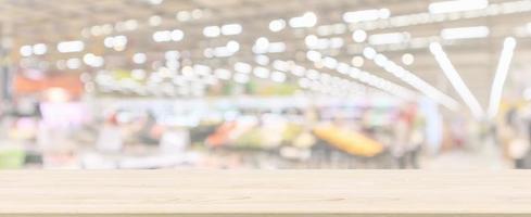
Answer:
[(531, 171), (0, 171), (0, 216), (531, 216)]

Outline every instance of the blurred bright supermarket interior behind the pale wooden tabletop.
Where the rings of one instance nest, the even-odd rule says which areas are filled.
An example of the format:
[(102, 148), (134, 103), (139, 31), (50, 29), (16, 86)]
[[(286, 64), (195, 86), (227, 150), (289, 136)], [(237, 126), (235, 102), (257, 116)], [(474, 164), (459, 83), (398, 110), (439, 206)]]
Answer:
[(531, 168), (530, 56), (531, 0), (0, 0), (0, 168)]

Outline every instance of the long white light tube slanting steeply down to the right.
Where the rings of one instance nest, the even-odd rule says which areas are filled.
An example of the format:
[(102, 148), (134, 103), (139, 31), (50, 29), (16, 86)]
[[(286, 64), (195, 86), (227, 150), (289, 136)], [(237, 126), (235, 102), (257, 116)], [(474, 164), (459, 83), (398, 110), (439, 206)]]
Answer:
[(439, 63), (439, 66), (441, 66), (446, 78), (448, 78), (454, 89), (470, 108), (472, 115), (477, 118), (483, 117), (484, 111), (481, 108), (478, 99), (473, 97), (470, 89), (468, 89), (467, 85), (455, 69), (454, 65), (452, 65), (452, 62), (442, 49), (441, 44), (438, 42), (430, 43), (430, 51), (435, 56), (435, 60)]

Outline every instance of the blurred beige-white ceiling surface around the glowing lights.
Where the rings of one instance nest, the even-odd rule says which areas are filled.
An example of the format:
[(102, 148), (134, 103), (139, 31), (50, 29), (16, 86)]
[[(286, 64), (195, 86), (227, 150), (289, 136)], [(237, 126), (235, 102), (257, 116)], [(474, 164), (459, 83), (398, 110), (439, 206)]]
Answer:
[[(503, 4), (516, 0), (491, 0), (492, 4)], [(280, 33), (271, 33), (268, 23), (275, 18), (289, 18), (302, 15), (306, 11), (313, 11), (318, 16), (317, 26), (342, 23), (341, 16), (346, 11), (388, 8), (392, 17), (404, 14), (422, 13), (428, 11), (429, 0), (165, 0), (162, 4), (151, 4), (149, 0), (0, 0), (0, 22), (2, 37), (13, 40), (13, 51), (22, 44), (45, 42), (54, 47), (58, 41), (81, 39), (88, 41), (86, 50), (110, 58), (127, 59), (136, 52), (156, 53), (168, 49), (189, 50), (193, 60), (202, 59), (202, 49), (210, 46), (226, 43), (229, 39), (236, 39), (242, 44), (242, 50), (236, 55), (238, 60), (252, 61), (252, 43), (256, 38), (266, 36), (271, 41), (286, 41), (287, 52), (273, 54), (280, 60), (296, 60), (301, 65), (312, 67), (312, 64), (301, 58), (305, 53), (304, 36), (315, 34), (316, 28), (288, 29)], [(531, 2), (529, 3), (531, 5)], [(203, 16), (199, 20), (182, 23), (176, 20), (179, 11), (192, 11), (201, 9)], [(148, 21), (153, 15), (163, 18), (161, 26), (150, 26)], [(116, 52), (104, 50), (102, 40), (104, 37), (84, 38), (83, 29), (103, 24), (136, 20), (139, 28), (134, 31), (121, 33), (129, 38), (126, 51)], [(467, 39), (456, 41), (442, 41), (444, 48), (469, 86), (472, 93), (479, 99), (482, 106), (488, 105), (490, 87), (497, 65), (497, 59), (502, 50), (502, 43), (507, 36), (517, 36), (518, 46), (515, 60), (511, 64), (511, 73), (526, 73), (530, 68), (527, 61), (531, 51), (530, 38), (524, 34), (517, 34), (517, 28), (531, 22), (531, 12), (514, 12), (502, 15), (490, 15), (473, 18), (458, 18), (455, 21), (434, 22), (404, 27), (389, 27), (372, 29), (361, 24), (369, 35), (391, 31), (407, 31), (412, 38), (428, 38), (439, 36), (440, 30), (448, 27), (488, 26), (491, 34), (488, 38)], [(222, 25), (227, 23), (240, 23), (243, 34), (235, 37), (220, 37), (207, 39), (202, 36), (202, 29), (208, 25)], [(160, 29), (179, 28), (186, 33), (184, 41), (176, 43), (154, 43), (151, 35)], [(336, 36), (334, 36), (336, 37)], [(351, 33), (339, 35), (346, 43), (337, 51), (324, 51), (337, 56), (341, 62), (350, 63), (352, 56), (359, 55), (366, 47), (365, 43), (355, 43), (351, 39)], [(457, 93), (444, 77), (429, 49), (425, 46), (413, 48), (410, 43), (403, 48), (390, 49), (377, 47), (377, 50), (389, 59), (400, 63), (404, 53), (413, 53), (416, 58), (410, 66), (404, 66), (418, 77), (425, 79), (441, 91), (462, 102)], [(17, 52), (13, 52), (15, 59)], [(69, 55), (69, 54), (68, 54)], [(81, 54), (79, 54), (80, 56)], [(66, 54), (50, 53), (45, 59), (66, 59)], [(235, 58), (233, 58), (235, 59)], [(210, 60), (208, 64), (219, 65), (230, 60)], [(127, 61), (122, 61), (119, 66), (127, 67)], [(402, 64), (401, 64), (402, 65)], [(366, 61), (363, 69), (392, 80), (399, 85), (410, 88), (407, 84), (396, 79)], [(510, 81), (510, 80), (509, 80)], [(513, 82), (515, 80), (511, 80)], [(518, 80), (517, 80), (518, 81)], [(514, 84), (515, 85), (515, 84)]]

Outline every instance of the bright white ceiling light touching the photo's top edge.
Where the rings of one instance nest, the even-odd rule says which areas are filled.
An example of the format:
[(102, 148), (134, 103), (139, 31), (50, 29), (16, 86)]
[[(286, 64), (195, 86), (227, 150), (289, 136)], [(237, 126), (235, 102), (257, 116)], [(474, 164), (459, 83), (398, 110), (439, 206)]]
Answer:
[(472, 11), (485, 9), (488, 0), (453, 0), (431, 3), (428, 9), (432, 14)]

